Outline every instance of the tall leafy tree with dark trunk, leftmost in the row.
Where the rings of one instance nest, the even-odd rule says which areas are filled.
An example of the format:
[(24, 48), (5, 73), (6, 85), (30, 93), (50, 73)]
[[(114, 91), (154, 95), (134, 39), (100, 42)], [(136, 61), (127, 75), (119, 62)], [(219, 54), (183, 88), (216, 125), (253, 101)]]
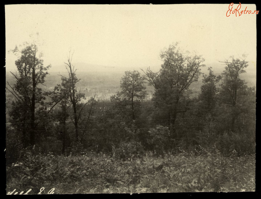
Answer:
[[(10, 72), (16, 79), (16, 84), (11, 86), (8, 82), (6, 89), (10, 91), (17, 102), (13, 102), (12, 113), (15, 110), (20, 110), (20, 114), (12, 114), (13, 122), (20, 120), (23, 128), (23, 137), (25, 138), (26, 133), (29, 131), (30, 134), (30, 144), (35, 144), (35, 128), (37, 126), (36, 109), (39, 106), (44, 105), (44, 100), (46, 99), (46, 94), (39, 88), (39, 84), (44, 84), (44, 79), (48, 75), (47, 70), (51, 67), (44, 66), (43, 59), (41, 59), (42, 54), (39, 53), (38, 47), (35, 43), (28, 44), (24, 43), (21, 50), (16, 46), (14, 50), (11, 50), (19, 58), (15, 61), (17, 66), (18, 74)], [(25, 114), (26, 113), (26, 114)], [(28, 124), (28, 114), (30, 114), (30, 125)], [(15, 126), (15, 123), (14, 123)], [(29, 130), (27, 130), (29, 127)], [(24, 145), (27, 141), (24, 140)]]

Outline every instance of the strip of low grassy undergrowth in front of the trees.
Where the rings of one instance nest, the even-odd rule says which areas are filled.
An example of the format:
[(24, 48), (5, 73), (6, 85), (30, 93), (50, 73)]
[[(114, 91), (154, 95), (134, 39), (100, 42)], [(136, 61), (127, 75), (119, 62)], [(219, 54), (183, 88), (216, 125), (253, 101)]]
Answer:
[(255, 156), (165, 155), (118, 160), (105, 154), (27, 155), (7, 166), (7, 193), (42, 194), (255, 191)]

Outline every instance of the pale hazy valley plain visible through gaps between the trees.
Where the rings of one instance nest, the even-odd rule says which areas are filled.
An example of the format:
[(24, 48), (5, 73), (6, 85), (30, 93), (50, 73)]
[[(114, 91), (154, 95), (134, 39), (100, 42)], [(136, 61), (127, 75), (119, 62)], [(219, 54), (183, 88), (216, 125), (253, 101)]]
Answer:
[[(77, 77), (80, 80), (79, 84), (77, 84), (77, 89), (81, 93), (84, 93), (86, 98), (90, 98), (96, 94), (96, 99), (101, 101), (108, 101), (112, 95), (115, 95), (120, 88), (120, 80), (124, 75), (123, 71), (112, 71), (112, 72), (102, 72), (97, 73), (95, 71), (77, 71)], [(114, 72), (114, 73), (113, 73)], [(40, 87), (44, 91), (52, 91), (57, 84), (61, 84), (61, 78), (58, 76), (59, 72), (52, 72), (50, 75), (46, 76), (45, 85), (40, 85)], [(64, 71), (60, 73), (67, 77), (68, 74)], [(217, 74), (220, 75), (220, 74)], [(256, 76), (244, 73), (242, 74), (242, 79), (245, 79), (248, 83), (248, 86), (256, 86)], [(14, 79), (11, 74), (7, 73), (6, 81), (8, 81), (11, 85), (14, 84)], [(197, 97), (200, 93), (200, 86), (202, 86), (202, 76), (198, 82), (193, 82), (190, 86), (192, 90), (191, 97)], [(147, 95), (145, 100), (151, 100), (154, 93), (154, 88), (152, 86), (146, 85)], [(8, 93), (8, 91), (7, 91)]]

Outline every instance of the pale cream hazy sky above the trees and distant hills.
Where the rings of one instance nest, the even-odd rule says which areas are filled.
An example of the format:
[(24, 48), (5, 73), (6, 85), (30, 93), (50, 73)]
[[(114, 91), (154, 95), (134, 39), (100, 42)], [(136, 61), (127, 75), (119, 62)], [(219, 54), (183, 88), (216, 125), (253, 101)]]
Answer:
[[(235, 4), (233, 9), (238, 4)], [(256, 10), (242, 4), (241, 10)], [(73, 62), (137, 68), (160, 65), (160, 51), (173, 42), (203, 55), (205, 64), (247, 53), (256, 67), (256, 15), (226, 17), (229, 4), (7, 5), (6, 51), (39, 32), (44, 63), (53, 70)], [(6, 71), (17, 57), (6, 55)], [(56, 68), (55, 68), (56, 67)]]

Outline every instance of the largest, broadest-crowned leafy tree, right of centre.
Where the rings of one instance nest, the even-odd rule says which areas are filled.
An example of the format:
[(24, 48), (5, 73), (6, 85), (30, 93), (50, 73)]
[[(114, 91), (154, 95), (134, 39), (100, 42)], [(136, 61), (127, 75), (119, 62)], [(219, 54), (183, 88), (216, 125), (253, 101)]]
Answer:
[(203, 58), (184, 55), (177, 46), (177, 43), (172, 44), (162, 50), (160, 58), (163, 64), (159, 72), (154, 73), (150, 68), (144, 71), (149, 85), (155, 88), (155, 107), (165, 113), (172, 138), (177, 114), (188, 110), (189, 86), (198, 80), (200, 68), (205, 66)]

